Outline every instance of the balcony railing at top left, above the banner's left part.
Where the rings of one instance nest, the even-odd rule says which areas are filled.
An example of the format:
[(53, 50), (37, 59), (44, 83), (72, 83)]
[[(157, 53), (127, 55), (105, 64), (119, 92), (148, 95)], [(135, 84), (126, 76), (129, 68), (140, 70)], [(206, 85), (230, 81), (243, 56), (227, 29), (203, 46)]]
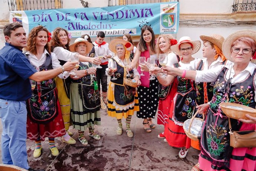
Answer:
[(59, 9), (63, 7), (62, 0), (8, 0), (10, 11)]

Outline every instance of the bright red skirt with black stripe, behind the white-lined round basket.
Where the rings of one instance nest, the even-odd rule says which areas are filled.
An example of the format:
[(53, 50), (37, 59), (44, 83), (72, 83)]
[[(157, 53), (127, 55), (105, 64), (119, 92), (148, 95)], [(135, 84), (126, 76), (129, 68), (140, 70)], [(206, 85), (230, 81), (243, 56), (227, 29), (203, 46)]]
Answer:
[(190, 148), (191, 139), (187, 137), (183, 127), (180, 125), (176, 125), (172, 119), (174, 103), (175, 100), (171, 103), (169, 117), (167, 120), (167, 124), (164, 128), (164, 137), (166, 138), (168, 144), (172, 147)]

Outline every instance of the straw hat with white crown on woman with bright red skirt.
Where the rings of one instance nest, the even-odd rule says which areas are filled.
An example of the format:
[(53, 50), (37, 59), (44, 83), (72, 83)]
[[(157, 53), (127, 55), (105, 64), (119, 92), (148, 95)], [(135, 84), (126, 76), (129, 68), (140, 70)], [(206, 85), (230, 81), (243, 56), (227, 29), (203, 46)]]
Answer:
[(180, 54), (180, 49), (179, 49), (179, 46), (181, 43), (192, 43), (193, 45), (193, 51), (192, 51), (192, 55), (194, 53), (197, 53), (198, 50), (200, 49), (201, 47), (201, 42), (199, 40), (196, 40), (196, 41), (191, 41), (191, 38), (188, 37), (188, 36), (183, 36), (180, 38), (179, 42), (177, 45), (173, 45), (171, 46), (171, 50), (173, 51), (173, 53), (175, 53), (176, 55), (181, 55)]

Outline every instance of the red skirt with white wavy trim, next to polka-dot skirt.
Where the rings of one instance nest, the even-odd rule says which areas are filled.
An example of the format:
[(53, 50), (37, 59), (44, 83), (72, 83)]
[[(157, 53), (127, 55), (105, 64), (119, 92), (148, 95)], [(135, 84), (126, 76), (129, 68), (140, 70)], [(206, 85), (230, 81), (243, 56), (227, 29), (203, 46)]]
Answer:
[(173, 102), (175, 93), (177, 92), (177, 79), (174, 79), (170, 87), (170, 92), (164, 100), (159, 99), (158, 103), (158, 114), (157, 114), (157, 124), (166, 125), (168, 120), (168, 115), (170, 112), (170, 106)]

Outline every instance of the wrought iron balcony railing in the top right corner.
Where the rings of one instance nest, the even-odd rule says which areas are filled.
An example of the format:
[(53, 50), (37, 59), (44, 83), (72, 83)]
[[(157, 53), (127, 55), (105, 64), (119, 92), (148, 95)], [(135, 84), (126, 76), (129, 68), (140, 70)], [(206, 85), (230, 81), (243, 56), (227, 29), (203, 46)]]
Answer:
[(232, 12), (256, 11), (256, 0), (234, 0)]

